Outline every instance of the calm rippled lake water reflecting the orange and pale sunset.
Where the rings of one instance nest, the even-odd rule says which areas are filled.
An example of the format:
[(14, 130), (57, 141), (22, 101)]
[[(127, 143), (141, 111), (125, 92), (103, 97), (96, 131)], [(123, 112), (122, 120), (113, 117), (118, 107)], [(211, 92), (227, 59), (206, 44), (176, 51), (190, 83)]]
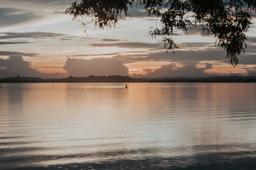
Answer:
[(256, 83), (2, 83), (0, 169), (256, 169)]

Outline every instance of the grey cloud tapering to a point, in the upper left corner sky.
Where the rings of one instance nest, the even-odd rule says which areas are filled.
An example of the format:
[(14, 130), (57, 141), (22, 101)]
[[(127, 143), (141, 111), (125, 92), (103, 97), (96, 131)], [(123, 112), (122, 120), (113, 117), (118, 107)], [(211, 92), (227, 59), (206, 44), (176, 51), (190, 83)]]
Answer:
[(38, 13), (32, 11), (16, 8), (0, 8), (0, 27), (20, 24), (40, 17), (42, 17), (42, 15), (38, 15)]

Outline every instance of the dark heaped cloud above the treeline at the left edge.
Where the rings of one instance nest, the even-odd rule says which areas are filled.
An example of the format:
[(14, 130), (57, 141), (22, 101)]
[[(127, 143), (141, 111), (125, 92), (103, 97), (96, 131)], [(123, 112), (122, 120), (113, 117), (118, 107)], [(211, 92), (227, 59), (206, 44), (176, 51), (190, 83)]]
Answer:
[(0, 78), (8, 76), (37, 77), (40, 72), (30, 67), (30, 63), (19, 55), (11, 55), (8, 59), (0, 59)]

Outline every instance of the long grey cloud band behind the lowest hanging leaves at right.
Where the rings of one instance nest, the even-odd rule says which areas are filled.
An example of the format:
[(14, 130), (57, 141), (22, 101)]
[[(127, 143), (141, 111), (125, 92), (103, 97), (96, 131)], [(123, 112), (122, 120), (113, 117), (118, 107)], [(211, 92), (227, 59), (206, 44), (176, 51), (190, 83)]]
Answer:
[[(250, 37), (252, 41), (252, 37)], [(173, 62), (200, 62), (200, 61), (221, 61), (230, 63), (226, 59), (227, 53), (220, 46), (215, 46), (214, 43), (189, 42), (179, 43), (179, 49), (175, 53), (168, 52), (159, 43), (138, 43), (138, 42), (116, 42), (116, 43), (93, 43), (91, 46), (117, 46), (120, 48), (146, 48), (140, 54), (122, 53), (116, 55), (115, 58), (123, 60), (124, 63), (139, 62), (139, 61), (173, 61)], [(239, 64), (256, 64), (255, 45), (248, 43), (246, 53), (238, 55)]]

